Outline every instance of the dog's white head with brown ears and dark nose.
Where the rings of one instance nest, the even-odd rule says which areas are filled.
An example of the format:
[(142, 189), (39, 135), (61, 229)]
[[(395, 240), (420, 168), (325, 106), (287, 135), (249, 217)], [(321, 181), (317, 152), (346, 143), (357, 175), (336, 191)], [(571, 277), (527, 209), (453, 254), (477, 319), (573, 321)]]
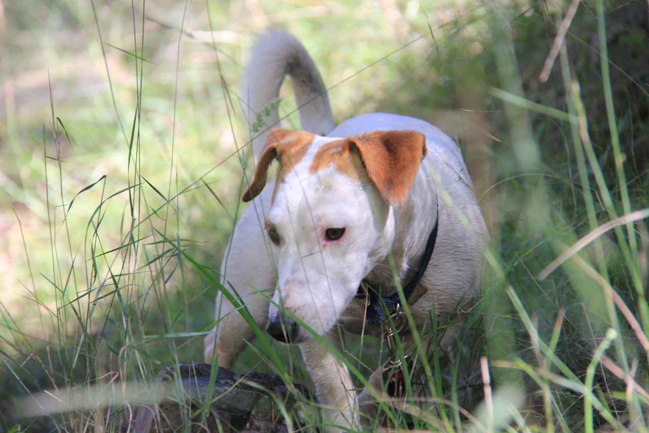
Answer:
[(278, 260), (269, 309), (273, 337), (310, 339), (291, 316), (319, 335), (336, 324), (361, 280), (387, 256), (395, 237), (393, 210), (406, 203), (425, 155), (424, 135), (414, 131), (350, 138), (284, 129), (269, 133), (242, 200), (263, 190), (277, 160), (265, 217)]

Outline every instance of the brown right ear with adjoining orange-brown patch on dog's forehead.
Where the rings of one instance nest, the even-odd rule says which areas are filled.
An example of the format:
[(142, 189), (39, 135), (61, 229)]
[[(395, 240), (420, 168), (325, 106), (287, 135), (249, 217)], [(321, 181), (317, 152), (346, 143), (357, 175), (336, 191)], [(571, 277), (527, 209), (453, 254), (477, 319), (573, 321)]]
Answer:
[(408, 199), (426, 152), (426, 138), (421, 133), (376, 131), (324, 144), (309, 171), (314, 173), (334, 163), (339, 172), (360, 179), (364, 165), (386, 201), (400, 208)]

